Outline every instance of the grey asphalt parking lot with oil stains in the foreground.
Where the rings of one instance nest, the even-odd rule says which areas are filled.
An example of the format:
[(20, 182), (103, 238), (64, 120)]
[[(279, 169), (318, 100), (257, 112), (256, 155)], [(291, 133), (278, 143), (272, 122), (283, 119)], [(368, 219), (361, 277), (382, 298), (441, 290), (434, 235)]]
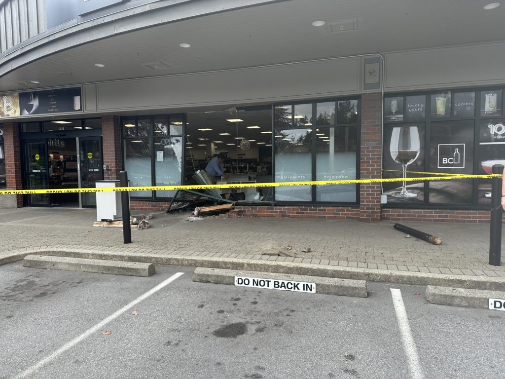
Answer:
[(368, 283), (359, 299), (195, 283), (192, 271), (0, 266), (0, 378), (502, 376), (503, 312), (427, 304), (417, 286)]

